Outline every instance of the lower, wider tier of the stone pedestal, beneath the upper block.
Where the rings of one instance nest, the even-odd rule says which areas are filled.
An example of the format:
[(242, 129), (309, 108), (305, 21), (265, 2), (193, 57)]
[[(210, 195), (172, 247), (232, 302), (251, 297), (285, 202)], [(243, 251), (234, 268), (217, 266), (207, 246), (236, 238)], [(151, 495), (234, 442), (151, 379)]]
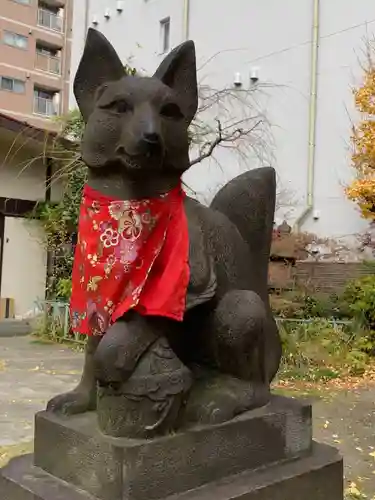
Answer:
[[(199, 475), (198, 470), (194, 473)], [(174, 495), (173, 500), (343, 500), (342, 478), (337, 451), (314, 444), (308, 457), (226, 477)], [(160, 498), (162, 491), (162, 484), (154, 485), (153, 498)], [(96, 500), (34, 467), (31, 455), (14, 459), (0, 470), (0, 492), (1, 500)], [(123, 492), (111, 500), (128, 498)]]

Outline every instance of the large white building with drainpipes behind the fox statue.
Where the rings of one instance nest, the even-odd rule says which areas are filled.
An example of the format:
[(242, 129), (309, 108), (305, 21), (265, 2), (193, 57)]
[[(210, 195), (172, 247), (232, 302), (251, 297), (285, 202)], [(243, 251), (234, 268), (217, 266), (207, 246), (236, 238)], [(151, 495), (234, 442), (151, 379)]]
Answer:
[[(254, 96), (271, 127), (266, 160), (289, 198), (278, 220), (285, 216), (302, 230), (343, 239), (365, 229), (344, 186), (352, 176), (350, 133), (357, 119), (352, 87), (361, 81), (365, 43), (375, 34), (373, 0), (85, 0), (75, 5), (73, 26), (72, 75), (85, 32), (94, 27), (146, 73), (189, 38), (203, 84), (235, 91), (256, 82)], [(266, 160), (249, 155), (247, 168)], [(195, 165), (185, 182), (207, 199), (212, 187), (243, 168), (223, 148)]]

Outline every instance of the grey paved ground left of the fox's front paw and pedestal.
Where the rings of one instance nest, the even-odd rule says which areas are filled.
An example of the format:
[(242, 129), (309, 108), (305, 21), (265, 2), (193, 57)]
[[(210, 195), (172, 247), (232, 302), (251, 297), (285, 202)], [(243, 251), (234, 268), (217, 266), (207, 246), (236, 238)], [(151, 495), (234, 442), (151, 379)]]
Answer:
[(79, 380), (82, 354), (28, 337), (0, 338), (0, 446), (33, 437), (35, 412)]

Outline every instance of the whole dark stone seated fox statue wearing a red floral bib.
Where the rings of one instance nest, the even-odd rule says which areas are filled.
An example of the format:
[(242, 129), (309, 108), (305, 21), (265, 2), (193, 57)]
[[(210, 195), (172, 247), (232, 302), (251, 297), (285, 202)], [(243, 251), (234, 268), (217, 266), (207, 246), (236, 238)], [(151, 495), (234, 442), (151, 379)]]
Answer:
[(71, 315), (88, 342), (78, 387), (47, 409), (94, 410), (100, 388), (125, 387), (129, 396), (153, 349), (143, 368), (148, 380), (159, 380), (164, 397), (176, 395), (173, 377), (163, 388), (158, 375), (168, 360), (180, 363), (179, 404), (197, 421), (266, 404), (281, 356), (267, 292), (274, 170), (240, 175), (210, 207), (183, 192), (198, 105), (192, 41), (170, 52), (153, 77), (126, 76), (108, 40), (90, 29), (74, 92), (89, 174)]

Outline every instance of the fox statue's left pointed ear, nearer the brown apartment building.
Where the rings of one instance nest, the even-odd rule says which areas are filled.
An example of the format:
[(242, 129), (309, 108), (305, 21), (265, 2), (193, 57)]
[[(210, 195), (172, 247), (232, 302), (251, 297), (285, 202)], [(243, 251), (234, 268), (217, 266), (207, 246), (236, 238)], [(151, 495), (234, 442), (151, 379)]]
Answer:
[(106, 82), (125, 76), (124, 65), (102, 33), (89, 28), (85, 49), (74, 79), (74, 95), (82, 117), (87, 122), (94, 109), (95, 93)]

